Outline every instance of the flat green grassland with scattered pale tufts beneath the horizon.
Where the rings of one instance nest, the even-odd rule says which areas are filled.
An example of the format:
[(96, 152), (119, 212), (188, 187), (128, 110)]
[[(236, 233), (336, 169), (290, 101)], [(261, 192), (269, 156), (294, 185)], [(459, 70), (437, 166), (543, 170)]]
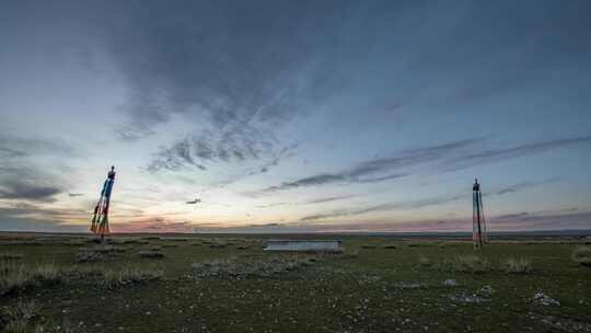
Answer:
[(591, 332), (581, 241), (338, 238), (341, 254), (289, 254), (260, 236), (3, 233), (0, 331)]

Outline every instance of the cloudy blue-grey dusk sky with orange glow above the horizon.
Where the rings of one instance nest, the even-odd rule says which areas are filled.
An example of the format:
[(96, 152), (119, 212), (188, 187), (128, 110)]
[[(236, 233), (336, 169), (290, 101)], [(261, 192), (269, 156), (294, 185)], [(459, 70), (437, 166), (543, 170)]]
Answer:
[[(0, 230), (591, 227), (591, 2), (0, 2)], [(187, 202), (199, 198), (199, 203)]]

